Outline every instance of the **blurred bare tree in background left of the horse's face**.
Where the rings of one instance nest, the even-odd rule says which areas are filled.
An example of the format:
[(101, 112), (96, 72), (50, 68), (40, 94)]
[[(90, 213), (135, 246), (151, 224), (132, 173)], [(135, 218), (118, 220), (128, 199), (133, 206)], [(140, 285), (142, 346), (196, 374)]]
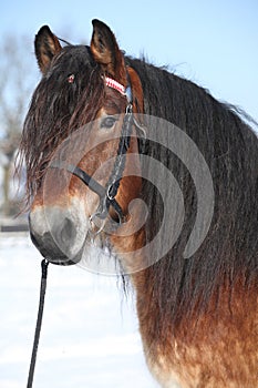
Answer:
[(17, 212), (11, 201), (13, 160), (19, 146), (24, 114), (37, 82), (37, 64), (32, 40), (6, 35), (0, 41), (0, 169), (2, 171), (0, 212), (7, 216)]

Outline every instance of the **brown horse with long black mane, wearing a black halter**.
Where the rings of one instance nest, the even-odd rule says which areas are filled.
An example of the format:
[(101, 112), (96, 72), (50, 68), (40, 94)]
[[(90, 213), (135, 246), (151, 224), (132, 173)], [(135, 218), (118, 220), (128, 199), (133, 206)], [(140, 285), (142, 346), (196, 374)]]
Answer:
[(92, 23), (89, 47), (35, 35), (20, 143), (32, 242), (56, 265), (80, 265), (89, 244), (115, 257), (162, 387), (258, 387), (251, 122)]

